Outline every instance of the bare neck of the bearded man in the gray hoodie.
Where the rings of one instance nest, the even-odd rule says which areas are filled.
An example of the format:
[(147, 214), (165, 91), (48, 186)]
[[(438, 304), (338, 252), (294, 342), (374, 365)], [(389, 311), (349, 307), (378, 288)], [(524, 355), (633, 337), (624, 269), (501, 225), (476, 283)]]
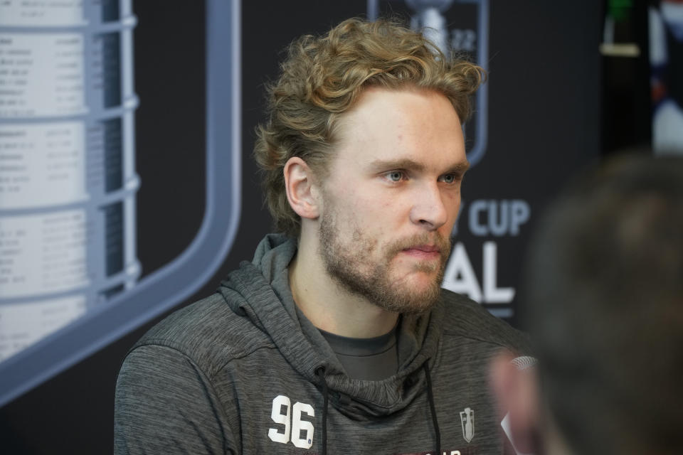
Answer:
[(317, 328), (349, 338), (373, 338), (391, 331), (398, 314), (344, 289), (327, 274), (314, 242), (300, 242), (289, 267), (290, 289), (299, 309)]

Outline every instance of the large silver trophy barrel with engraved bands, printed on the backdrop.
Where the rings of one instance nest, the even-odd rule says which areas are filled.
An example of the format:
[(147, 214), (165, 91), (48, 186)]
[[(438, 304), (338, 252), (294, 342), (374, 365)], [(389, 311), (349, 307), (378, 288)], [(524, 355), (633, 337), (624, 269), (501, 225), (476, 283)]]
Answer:
[(130, 0), (0, 4), (0, 360), (132, 287)]

